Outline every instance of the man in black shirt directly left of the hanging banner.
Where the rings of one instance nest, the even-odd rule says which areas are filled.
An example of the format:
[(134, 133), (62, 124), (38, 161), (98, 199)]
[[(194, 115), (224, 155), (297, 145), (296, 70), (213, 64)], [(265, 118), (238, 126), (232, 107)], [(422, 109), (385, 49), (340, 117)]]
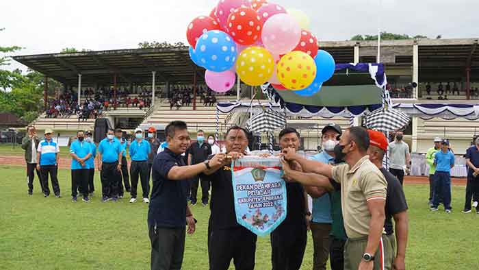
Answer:
[(225, 143), (227, 158), (219, 166), (211, 167), (204, 176), (205, 180), (211, 181), (212, 187), (208, 226), (209, 270), (227, 270), (231, 259), (236, 270), (253, 270), (257, 236), (236, 222), (231, 182), (231, 160), (246, 154), (246, 130), (231, 127), (226, 132)]

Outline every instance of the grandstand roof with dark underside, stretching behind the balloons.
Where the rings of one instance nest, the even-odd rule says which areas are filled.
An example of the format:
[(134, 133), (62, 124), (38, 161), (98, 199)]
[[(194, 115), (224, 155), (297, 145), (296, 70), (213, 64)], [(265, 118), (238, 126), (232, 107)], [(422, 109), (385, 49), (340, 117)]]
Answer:
[[(394, 48), (396, 58), (386, 65), (412, 66), (412, 50), (401, 47), (419, 45), (419, 78), (444, 81), (447, 78), (465, 77), (465, 68), (471, 68), (471, 80), (479, 81), (478, 39), (421, 39), (383, 40), (381, 47)], [(337, 63), (354, 62), (354, 47), (377, 47), (376, 41), (327, 41), (319, 42), (320, 48), (333, 55)], [(383, 51), (383, 49), (381, 49)], [(362, 52), (360, 51), (360, 56)], [(371, 59), (370, 59), (371, 58)], [(25, 64), (59, 82), (76, 85), (81, 73), (83, 86), (112, 84), (117, 82), (151, 84), (152, 71), (156, 71), (157, 84), (192, 84), (194, 73), (198, 82), (204, 82), (205, 70), (191, 60), (187, 47), (154, 49), (120, 49), (111, 51), (84, 51), (77, 53), (51, 53), (32, 56), (14, 56)], [(361, 62), (376, 62), (375, 57), (365, 56)]]

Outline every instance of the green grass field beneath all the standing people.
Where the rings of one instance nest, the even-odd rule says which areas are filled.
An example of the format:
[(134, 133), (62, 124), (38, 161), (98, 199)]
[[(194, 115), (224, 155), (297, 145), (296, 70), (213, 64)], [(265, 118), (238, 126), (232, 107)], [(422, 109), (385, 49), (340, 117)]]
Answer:
[[(44, 198), (38, 180), (27, 196), (22, 167), (0, 165), (0, 269), (149, 269), (147, 205), (128, 199), (90, 204), (70, 201), (70, 171), (60, 170), (63, 197)], [(96, 192), (101, 185), (96, 174)], [(140, 186), (141, 188), (141, 186)], [(479, 214), (461, 213), (464, 187), (453, 188), (453, 212), (429, 212), (428, 186), (406, 186), (409, 245), (406, 269), (479, 269)], [(187, 236), (183, 269), (208, 269), (209, 208), (192, 208), (198, 225)], [(311, 234), (302, 269), (311, 269)], [(259, 238), (256, 269), (271, 269), (269, 238)], [(231, 267), (231, 269), (234, 269)]]

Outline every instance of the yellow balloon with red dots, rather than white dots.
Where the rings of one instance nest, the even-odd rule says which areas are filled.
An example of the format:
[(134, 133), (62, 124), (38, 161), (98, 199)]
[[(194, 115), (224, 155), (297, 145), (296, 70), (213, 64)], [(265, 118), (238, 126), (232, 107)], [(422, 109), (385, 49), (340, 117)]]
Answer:
[(287, 89), (301, 90), (307, 88), (316, 77), (316, 64), (307, 53), (292, 51), (279, 60), (276, 75)]

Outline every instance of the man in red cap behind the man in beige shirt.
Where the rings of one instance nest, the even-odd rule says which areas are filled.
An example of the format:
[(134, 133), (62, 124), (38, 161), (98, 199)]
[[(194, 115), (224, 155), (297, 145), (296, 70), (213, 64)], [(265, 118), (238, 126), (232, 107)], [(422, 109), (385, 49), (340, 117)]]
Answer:
[[(405, 269), (404, 258), (408, 236), (406, 197), (398, 178), (383, 167), (383, 159), (388, 146), (385, 134), (375, 130), (367, 130), (367, 133), (370, 135), (370, 147), (367, 149), (367, 155), (370, 156), (370, 161), (378, 167), (387, 181), (386, 220), (384, 223), (386, 232), (386, 241), (384, 241), (385, 260), (389, 260), (394, 269)], [(392, 218), (394, 218), (396, 224), (396, 238)], [(396, 254), (393, 254), (394, 250), (397, 250)]]

